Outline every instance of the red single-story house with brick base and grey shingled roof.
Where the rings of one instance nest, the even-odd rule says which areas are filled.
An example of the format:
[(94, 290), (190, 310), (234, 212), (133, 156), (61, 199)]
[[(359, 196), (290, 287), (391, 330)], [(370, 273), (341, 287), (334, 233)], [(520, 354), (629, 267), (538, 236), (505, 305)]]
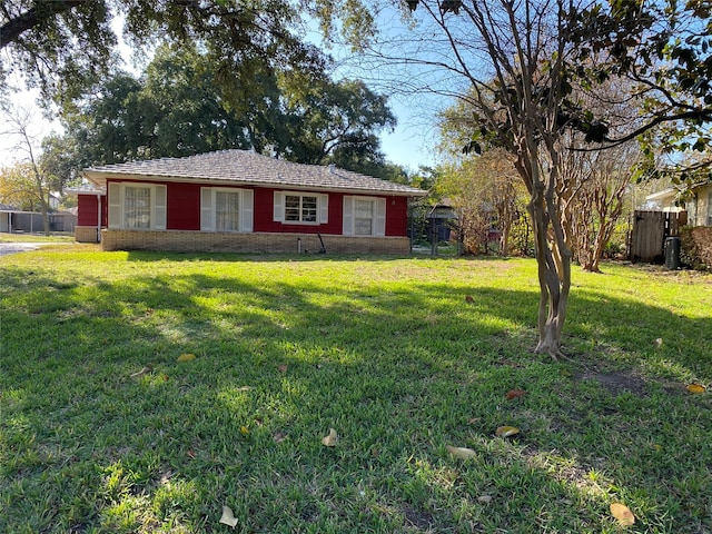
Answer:
[(246, 150), (92, 167), (78, 241), (103, 250), (407, 254), (408, 201), (427, 195), (334, 166)]

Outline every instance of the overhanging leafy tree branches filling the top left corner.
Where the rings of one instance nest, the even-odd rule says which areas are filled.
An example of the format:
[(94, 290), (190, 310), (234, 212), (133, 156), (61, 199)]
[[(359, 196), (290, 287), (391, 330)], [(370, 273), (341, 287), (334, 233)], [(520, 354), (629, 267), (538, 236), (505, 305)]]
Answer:
[[(0, 88), (7, 75), (24, 76), (43, 98), (69, 106), (105, 79), (115, 62), (113, 14), (135, 48), (158, 42), (199, 42), (218, 65), (216, 82), (239, 102), (241, 82), (265, 66), (318, 66), (323, 57), (298, 37), (297, 6), (280, 0), (3, 0), (0, 4)], [(236, 103), (237, 105), (237, 103)]]

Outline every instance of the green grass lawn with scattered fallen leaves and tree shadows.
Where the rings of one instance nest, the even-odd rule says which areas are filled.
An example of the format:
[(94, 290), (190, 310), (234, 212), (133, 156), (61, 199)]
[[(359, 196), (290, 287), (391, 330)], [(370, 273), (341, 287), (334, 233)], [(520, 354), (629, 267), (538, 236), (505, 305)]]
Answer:
[(603, 268), (554, 363), (526, 259), (2, 257), (0, 532), (710, 533), (712, 277)]

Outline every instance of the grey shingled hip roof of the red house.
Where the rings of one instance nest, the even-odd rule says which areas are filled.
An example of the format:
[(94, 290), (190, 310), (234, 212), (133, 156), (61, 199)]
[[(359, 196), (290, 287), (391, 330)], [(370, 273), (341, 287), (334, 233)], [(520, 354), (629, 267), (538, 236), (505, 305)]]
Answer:
[(99, 187), (107, 179), (160, 179), (166, 181), (200, 181), (215, 184), (279, 186), (294, 189), (318, 189), (344, 192), (370, 192), (395, 196), (425, 196), (427, 191), (380, 180), (334, 166), (293, 164), (283, 159), (246, 150), (220, 150), (186, 158), (162, 158), (147, 161), (92, 167), (85, 176)]

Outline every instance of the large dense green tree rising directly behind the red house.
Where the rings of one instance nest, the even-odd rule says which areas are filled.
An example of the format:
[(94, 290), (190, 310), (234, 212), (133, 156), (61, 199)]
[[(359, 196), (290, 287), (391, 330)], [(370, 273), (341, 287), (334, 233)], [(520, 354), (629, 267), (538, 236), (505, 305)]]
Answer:
[(162, 46), (140, 78), (108, 79), (65, 115), (63, 142), (77, 167), (269, 147), (289, 160), (386, 177), (377, 132), (395, 118), (363, 82), (265, 71), (259, 83), (240, 88), (236, 108), (216, 82), (218, 68), (196, 47)]

